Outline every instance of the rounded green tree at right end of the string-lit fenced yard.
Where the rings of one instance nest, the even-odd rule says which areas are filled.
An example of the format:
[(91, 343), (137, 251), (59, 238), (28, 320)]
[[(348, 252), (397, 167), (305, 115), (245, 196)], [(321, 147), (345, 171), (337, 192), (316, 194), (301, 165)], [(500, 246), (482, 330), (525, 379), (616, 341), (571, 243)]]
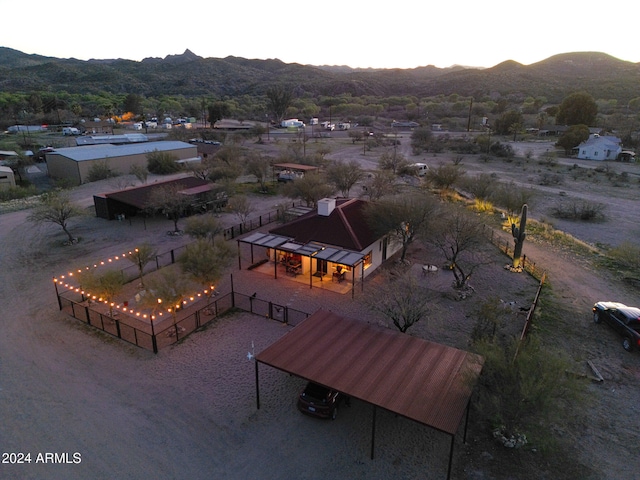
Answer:
[(202, 285), (211, 297), (216, 283), (233, 258), (234, 252), (227, 242), (201, 238), (186, 246), (184, 253), (178, 257), (178, 263), (182, 272)]

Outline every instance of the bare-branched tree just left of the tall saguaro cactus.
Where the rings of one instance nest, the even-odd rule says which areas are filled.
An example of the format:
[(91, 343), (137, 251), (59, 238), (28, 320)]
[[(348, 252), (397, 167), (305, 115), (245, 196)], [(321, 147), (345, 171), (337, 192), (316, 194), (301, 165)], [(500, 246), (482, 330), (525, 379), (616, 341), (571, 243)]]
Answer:
[(468, 287), (471, 275), (488, 263), (482, 255), (486, 243), (484, 225), (462, 207), (451, 206), (438, 218), (427, 242), (436, 246), (453, 272), (454, 287)]

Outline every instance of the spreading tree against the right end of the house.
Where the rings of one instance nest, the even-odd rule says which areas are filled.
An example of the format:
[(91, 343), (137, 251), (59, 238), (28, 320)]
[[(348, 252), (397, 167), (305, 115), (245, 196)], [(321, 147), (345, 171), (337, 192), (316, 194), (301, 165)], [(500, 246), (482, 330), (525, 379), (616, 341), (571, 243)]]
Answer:
[(436, 222), (440, 205), (430, 193), (396, 195), (371, 202), (364, 217), (376, 235), (391, 235), (402, 244), (400, 261), (407, 249), (420, 235), (425, 235)]

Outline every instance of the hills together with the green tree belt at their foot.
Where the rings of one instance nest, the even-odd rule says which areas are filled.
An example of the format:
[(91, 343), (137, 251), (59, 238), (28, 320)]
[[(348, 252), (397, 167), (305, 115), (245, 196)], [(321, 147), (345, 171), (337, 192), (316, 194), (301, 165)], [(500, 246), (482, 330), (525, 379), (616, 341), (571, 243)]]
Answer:
[[(237, 120), (277, 121), (268, 92), (291, 92), (286, 117), (320, 116), (361, 125), (390, 120), (478, 130), (509, 112), (515, 134), (555, 123), (568, 95), (583, 91), (598, 105), (593, 127), (617, 131), (634, 146), (640, 125), (640, 65), (597, 52), (568, 53), (492, 68), (352, 69), (286, 64), (277, 59), (202, 58), (189, 50), (140, 62), (59, 59), (0, 48), (0, 128), (77, 124), (125, 112), (202, 120), (224, 102)], [(504, 119), (503, 119), (504, 120)], [(627, 137), (626, 139), (624, 137)]]

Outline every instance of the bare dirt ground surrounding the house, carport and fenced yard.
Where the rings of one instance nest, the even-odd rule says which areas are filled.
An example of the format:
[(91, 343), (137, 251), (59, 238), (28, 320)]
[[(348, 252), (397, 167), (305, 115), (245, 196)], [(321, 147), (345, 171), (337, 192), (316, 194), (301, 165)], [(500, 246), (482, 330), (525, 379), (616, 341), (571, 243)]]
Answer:
[[(408, 140), (401, 151), (413, 161), (435, 164), (447, 156), (410, 157)], [(271, 144), (274, 152), (281, 147)], [(548, 209), (558, 200), (587, 198), (607, 205), (606, 220), (594, 224), (553, 221), (557, 228), (594, 245), (637, 241), (634, 214), (639, 195), (636, 165), (613, 165), (629, 170), (627, 184), (612, 185), (604, 176), (573, 179), (562, 172), (576, 163), (560, 160), (555, 167), (538, 163), (548, 143), (515, 144), (532, 149), (528, 160), (482, 163), (465, 158), (469, 173), (493, 172), (541, 192), (531, 202), (530, 215), (550, 219)], [(312, 146), (310, 147), (312, 148)], [(350, 141), (333, 141), (329, 158), (356, 159), (374, 168), (380, 152), (362, 155)], [(585, 169), (594, 165), (586, 164)], [(538, 185), (547, 168), (563, 174), (564, 183)], [(586, 171), (586, 170), (585, 170)], [(566, 174), (565, 174), (566, 173)], [(609, 182), (609, 183), (608, 183)], [(74, 190), (77, 201), (91, 205), (92, 195), (109, 190), (108, 182)], [(279, 198), (256, 197), (256, 214), (273, 210)], [(81, 462), (52, 465), (32, 462), (0, 464), (5, 478), (445, 478), (449, 439), (393, 415), (380, 415), (376, 458), (369, 459), (370, 407), (354, 401), (336, 422), (317, 422), (295, 411), (300, 379), (275, 371), (261, 371), (262, 408), (255, 408), (254, 367), (246, 359), (252, 342), (256, 351), (286, 333), (278, 323), (238, 315), (225, 317), (186, 341), (158, 355), (94, 332), (57, 310), (51, 279), (71, 266), (88, 264), (149, 240), (159, 250), (187, 242), (168, 237), (167, 221), (143, 225), (107, 222), (88, 216), (72, 231), (81, 237), (63, 247), (64, 235), (55, 228), (36, 230), (25, 222), (26, 211), (0, 215), (0, 413), (3, 452), (74, 452)], [(236, 223), (229, 214), (221, 221)], [(564, 307), (558, 311), (555, 343), (575, 360), (576, 371), (590, 374), (592, 361), (604, 382), (590, 383), (593, 403), (571, 429), (554, 434), (561, 451), (544, 457), (530, 449), (508, 450), (491, 440), (471, 418), (468, 443), (456, 440), (453, 478), (459, 479), (620, 479), (637, 476), (637, 455), (632, 448), (638, 424), (633, 419), (640, 393), (640, 357), (628, 354), (618, 337), (590, 319), (590, 306), (599, 299), (640, 304), (637, 290), (614, 275), (595, 271), (568, 250), (537, 243), (525, 253), (549, 274), (553, 295)], [(536, 282), (524, 274), (504, 270), (507, 263), (497, 250), (489, 250), (493, 266), (473, 279), (476, 294), (454, 299), (446, 272), (423, 277), (423, 263), (440, 263), (435, 252), (411, 250), (411, 267), (426, 294), (434, 299), (434, 312), (411, 331), (429, 340), (466, 348), (476, 302), (498, 296), (516, 305), (531, 301)], [(363, 296), (351, 299), (320, 289), (277, 281), (261, 274), (233, 273), (236, 288), (256, 292), (260, 298), (305, 311), (320, 306), (355, 318), (383, 323), (371, 313)], [(229, 279), (220, 285), (224, 291)], [(372, 281), (375, 281), (373, 279)], [(513, 327), (523, 318), (514, 310)], [(459, 436), (461, 437), (461, 435)]]

